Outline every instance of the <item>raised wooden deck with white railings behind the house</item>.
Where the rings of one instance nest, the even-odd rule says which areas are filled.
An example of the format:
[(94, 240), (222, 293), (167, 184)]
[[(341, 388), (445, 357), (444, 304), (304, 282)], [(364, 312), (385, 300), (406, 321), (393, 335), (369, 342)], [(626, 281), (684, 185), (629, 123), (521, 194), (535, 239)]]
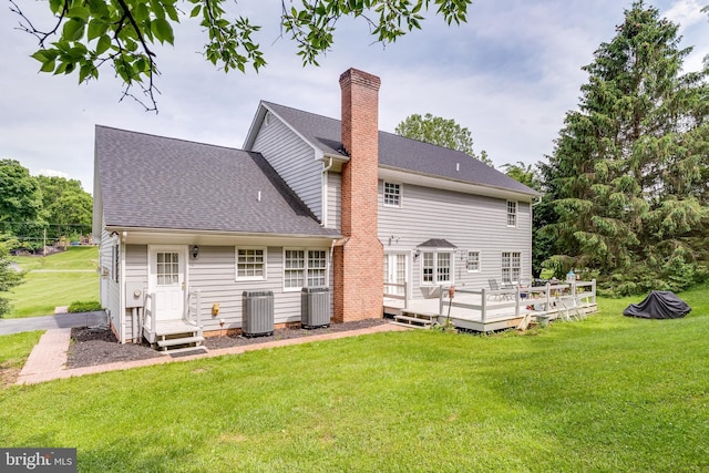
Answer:
[(439, 323), (450, 317), (459, 329), (490, 332), (524, 328), (530, 321), (577, 320), (596, 311), (595, 280), (497, 291), (458, 289), (453, 299), (448, 298), (448, 291), (440, 292), (436, 299), (384, 297), (384, 313), (394, 319), (420, 317)]

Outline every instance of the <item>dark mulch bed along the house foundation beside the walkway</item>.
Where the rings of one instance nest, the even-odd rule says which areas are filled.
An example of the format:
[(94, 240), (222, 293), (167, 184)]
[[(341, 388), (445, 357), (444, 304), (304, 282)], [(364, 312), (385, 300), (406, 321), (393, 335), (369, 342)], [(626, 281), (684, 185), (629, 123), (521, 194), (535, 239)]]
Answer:
[[(322, 333), (333, 333), (359, 330), (388, 323), (387, 319), (367, 319), (354, 322), (332, 323), (328, 328), (305, 330), (299, 327), (278, 329), (269, 337), (246, 338), (242, 336), (209, 337), (204, 341), (207, 349), (238, 347), (245, 345), (265, 343), (274, 340), (302, 338)], [(71, 329), (71, 345), (66, 360), (66, 368), (93, 367), (96, 364), (115, 363), (119, 361), (145, 360), (164, 357), (147, 343), (119, 343), (107, 328), (74, 328)]]

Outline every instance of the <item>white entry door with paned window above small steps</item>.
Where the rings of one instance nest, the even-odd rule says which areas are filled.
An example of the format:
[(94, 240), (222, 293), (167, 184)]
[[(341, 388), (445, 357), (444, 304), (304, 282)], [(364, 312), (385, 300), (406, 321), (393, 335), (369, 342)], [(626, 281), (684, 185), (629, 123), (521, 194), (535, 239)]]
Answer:
[(151, 247), (150, 256), (150, 291), (155, 295), (155, 320), (179, 320), (185, 308), (184, 247)]

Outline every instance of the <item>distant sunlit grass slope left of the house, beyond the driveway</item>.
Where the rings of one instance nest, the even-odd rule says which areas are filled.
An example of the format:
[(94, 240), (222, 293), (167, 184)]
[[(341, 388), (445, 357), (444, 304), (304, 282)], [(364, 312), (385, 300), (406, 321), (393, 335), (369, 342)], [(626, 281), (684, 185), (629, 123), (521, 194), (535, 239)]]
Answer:
[(69, 247), (47, 257), (21, 256), (13, 260), (29, 273), (24, 282), (7, 295), (12, 305), (7, 318), (48, 316), (56, 306), (99, 300), (97, 247)]

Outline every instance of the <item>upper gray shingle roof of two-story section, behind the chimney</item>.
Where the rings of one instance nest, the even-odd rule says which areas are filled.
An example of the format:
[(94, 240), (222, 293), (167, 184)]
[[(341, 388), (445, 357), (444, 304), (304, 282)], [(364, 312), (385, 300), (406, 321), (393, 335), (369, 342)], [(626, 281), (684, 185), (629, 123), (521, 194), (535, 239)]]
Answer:
[[(339, 120), (271, 102), (263, 103), (323, 153), (343, 154)], [(465, 153), (381, 131), (379, 132), (379, 165), (531, 196), (540, 195), (536, 191)]]

